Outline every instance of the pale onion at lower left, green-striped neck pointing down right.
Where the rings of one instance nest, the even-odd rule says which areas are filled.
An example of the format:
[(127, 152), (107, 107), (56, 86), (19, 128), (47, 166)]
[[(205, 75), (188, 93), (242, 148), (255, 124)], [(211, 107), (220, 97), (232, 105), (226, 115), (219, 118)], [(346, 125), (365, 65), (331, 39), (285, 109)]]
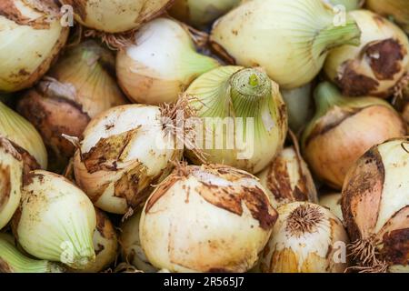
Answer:
[(25, 177), (12, 228), (30, 255), (82, 269), (95, 261), (95, 219), (94, 206), (81, 189), (63, 176), (36, 170)]

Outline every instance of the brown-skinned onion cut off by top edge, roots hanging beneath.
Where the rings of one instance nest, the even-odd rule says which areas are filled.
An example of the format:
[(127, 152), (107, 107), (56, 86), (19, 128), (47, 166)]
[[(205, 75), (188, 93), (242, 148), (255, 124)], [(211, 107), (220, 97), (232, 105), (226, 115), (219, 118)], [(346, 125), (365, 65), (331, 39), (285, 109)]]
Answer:
[(122, 33), (161, 15), (174, 0), (61, 0), (72, 5), (75, 20), (106, 33)]

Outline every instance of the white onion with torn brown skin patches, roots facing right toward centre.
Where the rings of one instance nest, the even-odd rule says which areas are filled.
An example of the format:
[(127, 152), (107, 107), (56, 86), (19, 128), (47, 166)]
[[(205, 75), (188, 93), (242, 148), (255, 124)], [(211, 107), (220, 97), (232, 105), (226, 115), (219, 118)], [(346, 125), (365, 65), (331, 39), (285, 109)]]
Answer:
[(184, 148), (175, 145), (175, 135), (164, 123), (174, 109), (122, 105), (90, 122), (75, 152), (74, 171), (95, 206), (126, 214), (145, 202), (151, 185), (169, 175)]

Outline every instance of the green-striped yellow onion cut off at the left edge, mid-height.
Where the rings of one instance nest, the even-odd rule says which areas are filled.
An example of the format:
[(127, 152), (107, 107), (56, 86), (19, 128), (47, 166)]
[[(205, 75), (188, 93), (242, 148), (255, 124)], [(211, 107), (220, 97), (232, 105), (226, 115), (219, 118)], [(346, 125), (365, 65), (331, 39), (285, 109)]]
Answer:
[(0, 102), (0, 135), (9, 139), (31, 169), (47, 168), (47, 152), (41, 135), (21, 115)]

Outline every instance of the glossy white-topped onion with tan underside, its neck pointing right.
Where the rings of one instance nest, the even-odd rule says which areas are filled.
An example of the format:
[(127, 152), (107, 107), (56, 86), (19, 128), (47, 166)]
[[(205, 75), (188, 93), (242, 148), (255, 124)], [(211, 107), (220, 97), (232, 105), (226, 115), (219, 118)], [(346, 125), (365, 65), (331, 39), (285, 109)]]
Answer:
[(135, 34), (135, 44), (117, 55), (116, 74), (125, 94), (136, 103), (174, 102), (198, 75), (218, 66), (200, 55), (188, 31), (167, 18), (157, 18)]

